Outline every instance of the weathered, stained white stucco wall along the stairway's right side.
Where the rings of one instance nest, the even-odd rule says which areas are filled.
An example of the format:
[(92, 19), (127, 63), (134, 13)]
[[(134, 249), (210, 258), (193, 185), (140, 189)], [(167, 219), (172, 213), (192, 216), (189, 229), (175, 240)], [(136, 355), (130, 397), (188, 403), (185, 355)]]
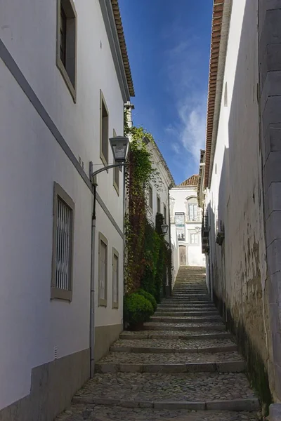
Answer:
[[(211, 283), (267, 359), (256, 0), (233, 1), (214, 166), (207, 190)], [(224, 92), (227, 83), (227, 104)], [(216, 222), (217, 221), (217, 222)], [(216, 244), (224, 225), (223, 246)]]

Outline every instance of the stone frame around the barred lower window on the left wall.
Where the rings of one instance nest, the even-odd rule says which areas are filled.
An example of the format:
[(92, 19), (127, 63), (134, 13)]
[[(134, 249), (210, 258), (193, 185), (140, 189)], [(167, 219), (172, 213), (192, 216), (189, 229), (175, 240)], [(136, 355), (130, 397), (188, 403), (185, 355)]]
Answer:
[[(67, 288), (58, 288), (56, 283), (57, 253), (58, 253), (58, 202), (62, 201), (70, 209), (70, 234), (68, 239), (68, 280)], [(74, 201), (57, 182), (53, 185), (53, 255), (52, 255), (52, 276), (51, 276), (51, 300), (72, 301), (73, 287), (73, 247), (74, 246)], [(63, 245), (62, 245), (63, 247)]]

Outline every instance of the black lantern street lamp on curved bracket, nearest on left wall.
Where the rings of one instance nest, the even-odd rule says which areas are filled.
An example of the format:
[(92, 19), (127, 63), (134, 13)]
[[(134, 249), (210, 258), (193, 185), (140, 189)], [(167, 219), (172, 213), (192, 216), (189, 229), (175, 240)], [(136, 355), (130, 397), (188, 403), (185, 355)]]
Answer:
[(110, 168), (115, 168), (116, 166), (126, 166), (126, 158), (129, 151), (129, 138), (125, 138), (124, 136), (115, 136), (115, 138), (110, 138), (110, 146), (112, 149), (113, 160), (115, 163), (110, 165), (104, 166), (97, 171), (92, 171), (93, 163), (91, 163), (90, 167), (90, 178), (91, 182), (94, 184), (94, 177), (102, 173), (103, 171), (107, 171)]

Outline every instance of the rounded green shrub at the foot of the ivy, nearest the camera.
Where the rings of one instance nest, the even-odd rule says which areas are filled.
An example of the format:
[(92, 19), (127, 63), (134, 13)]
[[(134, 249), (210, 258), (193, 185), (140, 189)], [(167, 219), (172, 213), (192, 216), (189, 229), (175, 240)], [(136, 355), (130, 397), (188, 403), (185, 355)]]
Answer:
[(153, 313), (151, 302), (143, 295), (133, 293), (124, 297), (124, 320), (130, 326), (148, 321)]

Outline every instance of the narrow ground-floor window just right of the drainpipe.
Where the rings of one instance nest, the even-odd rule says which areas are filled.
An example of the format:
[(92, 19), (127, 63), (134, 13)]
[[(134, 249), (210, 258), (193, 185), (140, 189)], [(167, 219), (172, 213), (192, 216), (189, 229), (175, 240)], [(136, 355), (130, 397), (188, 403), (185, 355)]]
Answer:
[(98, 305), (107, 306), (107, 239), (98, 234)]

